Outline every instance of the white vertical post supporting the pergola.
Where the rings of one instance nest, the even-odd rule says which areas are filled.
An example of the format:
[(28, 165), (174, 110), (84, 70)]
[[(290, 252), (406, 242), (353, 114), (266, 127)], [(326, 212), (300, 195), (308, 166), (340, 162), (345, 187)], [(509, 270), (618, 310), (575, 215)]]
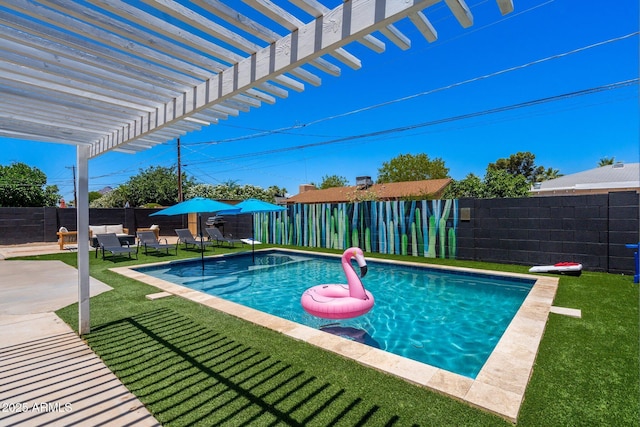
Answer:
[(89, 316), (89, 145), (78, 145), (78, 333), (91, 331)]

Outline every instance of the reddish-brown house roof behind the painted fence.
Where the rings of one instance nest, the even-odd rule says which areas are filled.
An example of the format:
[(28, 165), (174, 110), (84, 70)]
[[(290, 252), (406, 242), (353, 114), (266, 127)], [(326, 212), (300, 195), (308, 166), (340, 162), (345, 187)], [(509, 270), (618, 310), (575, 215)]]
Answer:
[(438, 197), (451, 179), (373, 184), (369, 187), (333, 187), (324, 190), (307, 190), (290, 197), (287, 203), (343, 203), (361, 200), (399, 200), (408, 197)]

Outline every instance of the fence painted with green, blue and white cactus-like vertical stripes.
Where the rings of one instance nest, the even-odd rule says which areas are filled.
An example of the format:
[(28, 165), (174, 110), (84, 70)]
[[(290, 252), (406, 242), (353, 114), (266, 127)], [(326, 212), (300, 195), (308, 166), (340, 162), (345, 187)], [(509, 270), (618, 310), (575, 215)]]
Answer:
[(458, 201), (298, 204), (255, 215), (254, 227), (263, 243), (455, 258)]

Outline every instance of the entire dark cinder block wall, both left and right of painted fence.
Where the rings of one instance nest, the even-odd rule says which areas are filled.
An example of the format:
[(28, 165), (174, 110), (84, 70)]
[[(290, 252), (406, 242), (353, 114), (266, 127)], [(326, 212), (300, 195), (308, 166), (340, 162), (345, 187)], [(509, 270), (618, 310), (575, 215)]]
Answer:
[[(635, 192), (602, 195), (531, 197), (523, 199), (461, 199), (470, 212), (457, 231), (458, 259), (523, 265), (561, 261), (584, 264), (591, 271), (632, 274), (633, 250), (640, 241), (640, 200)], [(158, 209), (90, 209), (89, 223), (136, 228), (160, 226), (175, 235), (187, 227), (184, 216), (153, 216)], [(202, 222), (209, 215), (202, 215)], [(225, 234), (251, 236), (251, 216), (227, 216)], [(0, 245), (55, 242), (60, 227), (76, 229), (72, 208), (0, 208)]]

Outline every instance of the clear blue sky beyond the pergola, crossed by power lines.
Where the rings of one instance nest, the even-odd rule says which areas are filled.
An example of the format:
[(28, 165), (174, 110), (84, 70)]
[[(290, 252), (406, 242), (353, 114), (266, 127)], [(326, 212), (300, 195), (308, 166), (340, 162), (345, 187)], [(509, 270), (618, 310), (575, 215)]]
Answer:
[[(637, 84), (561, 97), (638, 77), (637, 1), (514, 0), (505, 17), (493, 0), (467, 4), (474, 15), (469, 29), (444, 4), (436, 6), (426, 12), (438, 31), (435, 43), (403, 21), (397, 27), (411, 49), (389, 42), (375, 54), (354, 44), (347, 50), (361, 59), (360, 70), (342, 66), (337, 78), (319, 73), (320, 87), (306, 85), (275, 105), (182, 137), (183, 169), (203, 183), (276, 185), (296, 194), (300, 184), (326, 175), (350, 184), (360, 175), (375, 179), (383, 162), (407, 153), (442, 158), (454, 179), (482, 176), (488, 163), (518, 151), (563, 174), (591, 169), (603, 157), (640, 161)], [(489, 113), (546, 98), (556, 100)], [(448, 120), (463, 115), (473, 117)], [(73, 198), (74, 146), (1, 142), (0, 164), (38, 167)], [(307, 144), (317, 145), (295, 148)], [(90, 160), (89, 189), (175, 164), (175, 141), (135, 155), (107, 153)]]

